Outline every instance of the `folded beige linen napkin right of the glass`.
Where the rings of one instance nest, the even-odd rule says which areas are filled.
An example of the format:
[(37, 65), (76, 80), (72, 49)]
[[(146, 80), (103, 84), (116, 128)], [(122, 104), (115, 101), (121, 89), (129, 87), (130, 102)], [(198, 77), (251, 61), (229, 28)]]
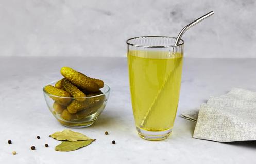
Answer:
[(211, 97), (196, 110), (182, 113), (182, 117), (197, 122), (193, 138), (256, 140), (256, 92), (233, 88), (227, 94)]

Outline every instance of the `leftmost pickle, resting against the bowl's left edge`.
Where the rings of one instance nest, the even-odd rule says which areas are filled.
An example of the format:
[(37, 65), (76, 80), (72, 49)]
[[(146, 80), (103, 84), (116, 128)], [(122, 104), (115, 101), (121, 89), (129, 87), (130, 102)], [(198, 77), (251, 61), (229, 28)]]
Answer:
[(62, 89), (58, 89), (58, 88), (55, 88), (54, 86), (47, 85), (44, 87), (44, 90), (51, 95), (59, 96), (59, 97), (50, 96), (50, 98), (55, 100), (60, 105), (66, 106), (71, 101), (71, 99), (69, 99), (69, 98), (61, 98), (61, 97), (71, 97), (69, 92), (66, 92)]

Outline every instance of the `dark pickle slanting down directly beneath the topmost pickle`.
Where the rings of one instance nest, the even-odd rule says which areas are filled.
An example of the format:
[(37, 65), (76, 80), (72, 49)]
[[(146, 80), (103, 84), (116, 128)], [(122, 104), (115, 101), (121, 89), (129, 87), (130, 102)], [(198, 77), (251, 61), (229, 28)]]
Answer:
[(79, 98), (79, 97), (86, 97), (86, 94), (84, 94), (82, 91), (80, 91), (75, 85), (70, 83), (69, 80), (66, 78), (63, 78), (61, 80), (62, 87), (65, 91), (69, 92), (73, 97), (77, 98), (76, 100), (79, 102), (83, 102), (86, 100), (85, 98)]

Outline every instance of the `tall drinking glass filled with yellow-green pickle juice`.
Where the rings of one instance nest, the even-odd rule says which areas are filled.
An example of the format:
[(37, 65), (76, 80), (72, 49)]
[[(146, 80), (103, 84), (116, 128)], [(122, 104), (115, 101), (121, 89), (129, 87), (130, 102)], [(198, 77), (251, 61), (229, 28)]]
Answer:
[(172, 132), (176, 117), (184, 41), (165, 36), (127, 40), (131, 103), (138, 134), (163, 140)]

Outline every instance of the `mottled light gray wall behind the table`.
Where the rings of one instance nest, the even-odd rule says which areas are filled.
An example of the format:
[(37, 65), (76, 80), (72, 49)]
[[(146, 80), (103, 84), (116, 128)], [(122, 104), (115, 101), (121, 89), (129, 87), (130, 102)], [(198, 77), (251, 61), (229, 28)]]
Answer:
[(0, 0), (0, 56), (126, 56), (126, 39), (187, 31), (186, 57), (256, 57), (253, 0)]

